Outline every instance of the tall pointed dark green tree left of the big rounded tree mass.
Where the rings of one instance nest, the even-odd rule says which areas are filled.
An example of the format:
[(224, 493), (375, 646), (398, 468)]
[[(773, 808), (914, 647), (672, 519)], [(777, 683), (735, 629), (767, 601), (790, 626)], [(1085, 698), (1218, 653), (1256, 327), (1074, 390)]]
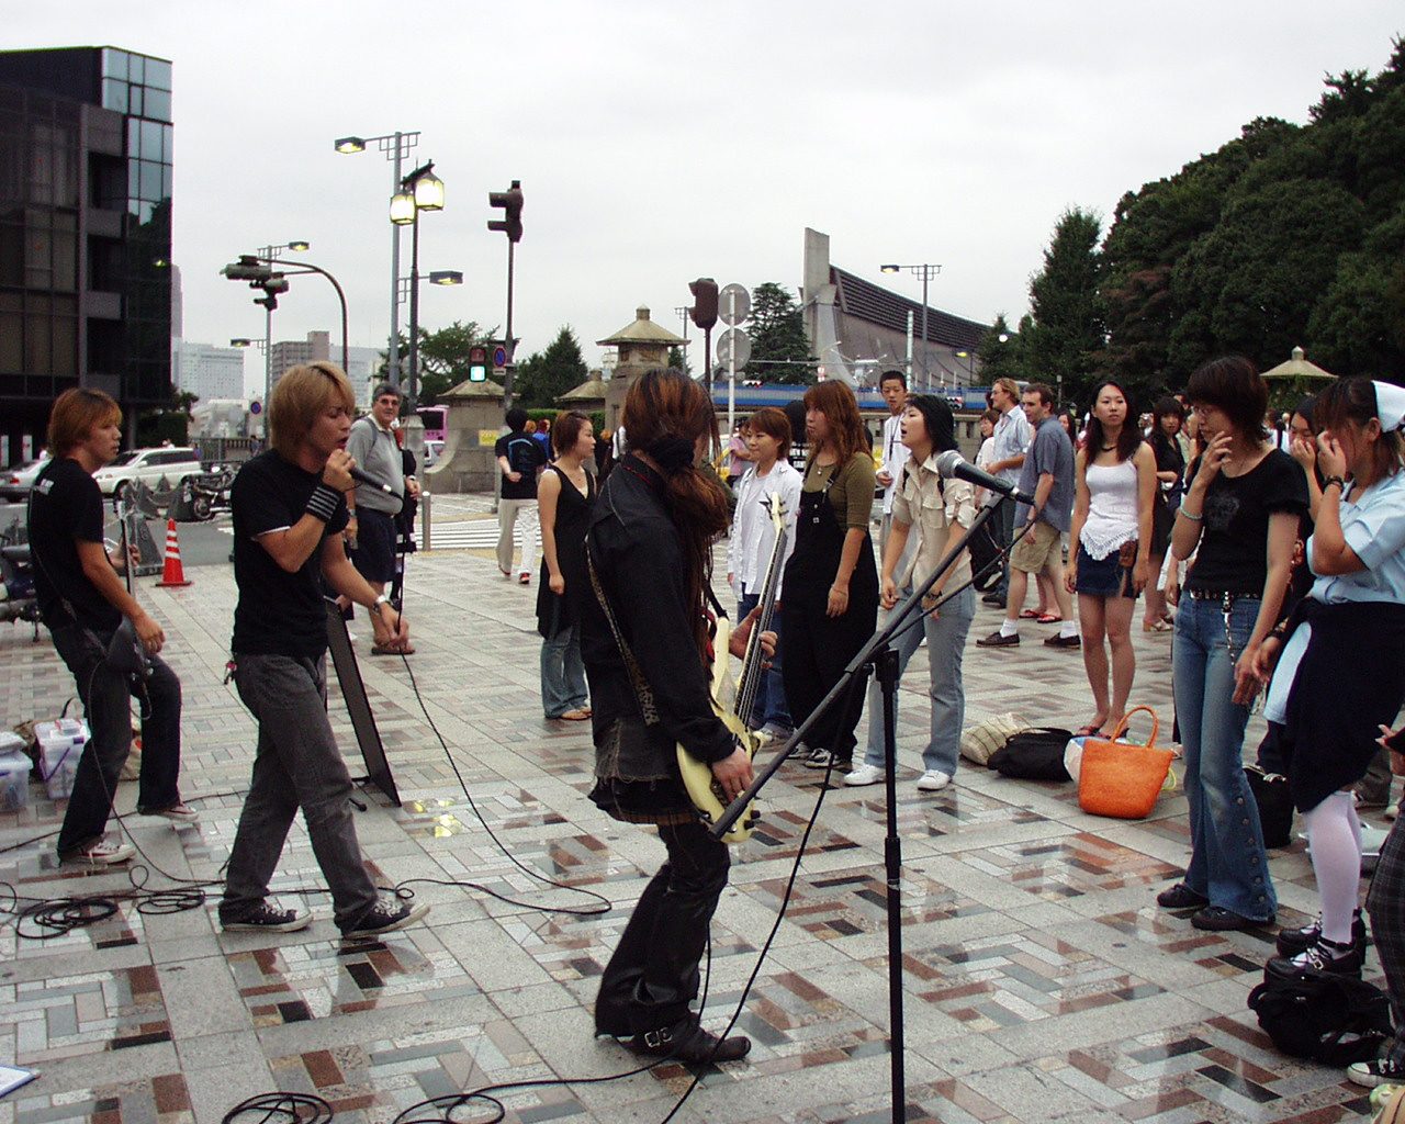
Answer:
[(1093, 389), (1093, 365), (1104, 344), (1100, 235), (1094, 214), (1076, 207), (1065, 211), (1044, 251), (1044, 268), (1030, 281), (1033, 325), (1021, 344), (1027, 378), (1078, 400)]

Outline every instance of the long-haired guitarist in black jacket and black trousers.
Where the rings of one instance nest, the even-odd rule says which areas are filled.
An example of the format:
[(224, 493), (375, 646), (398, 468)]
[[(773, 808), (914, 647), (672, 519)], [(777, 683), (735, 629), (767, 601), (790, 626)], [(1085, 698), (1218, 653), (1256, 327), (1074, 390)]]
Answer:
[[(679, 1061), (736, 1061), (752, 1043), (702, 1030), (690, 1003), (708, 923), (726, 885), (726, 846), (698, 819), (677, 746), (707, 763), (724, 798), (752, 781), (750, 754), (714, 711), (705, 599), (711, 548), (728, 525), (719, 483), (700, 471), (717, 422), (707, 392), (651, 371), (624, 403), (629, 451), (601, 489), (587, 535), (593, 596), (582, 601), (596, 787), (615, 819), (653, 823), (667, 861), (645, 888), (600, 981), (596, 1033)], [(731, 651), (745, 651), (743, 625)], [(725, 653), (722, 653), (725, 658)]]

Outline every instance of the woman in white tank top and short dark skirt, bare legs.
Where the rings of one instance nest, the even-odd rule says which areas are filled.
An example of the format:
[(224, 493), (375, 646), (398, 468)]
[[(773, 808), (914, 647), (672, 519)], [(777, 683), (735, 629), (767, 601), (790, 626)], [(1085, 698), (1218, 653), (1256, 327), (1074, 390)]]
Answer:
[(1069, 540), (1076, 549), (1065, 580), (1078, 593), (1083, 667), (1094, 707), (1093, 721), (1079, 733), (1116, 728), (1137, 674), (1131, 622), (1137, 594), (1152, 576), (1156, 458), (1130, 417), (1123, 388), (1103, 382), (1093, 395), (1087, 438), (1073, 459), (1076, 492)]

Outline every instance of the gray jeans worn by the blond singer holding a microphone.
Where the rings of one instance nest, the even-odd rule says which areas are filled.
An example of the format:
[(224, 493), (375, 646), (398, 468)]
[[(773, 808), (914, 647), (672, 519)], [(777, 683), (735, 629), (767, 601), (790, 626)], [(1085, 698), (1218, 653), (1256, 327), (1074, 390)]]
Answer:
[(235, 920), (268, 895), (292, 818), (302, 808), (312, 853), (332, 888), (337, 927), (354, 927), (378, 895), (351, 821), (351, 776), (327, 721), (326, 658), (236, 659), (235, 686), (259, 721), (259, 750), (219, 916)]

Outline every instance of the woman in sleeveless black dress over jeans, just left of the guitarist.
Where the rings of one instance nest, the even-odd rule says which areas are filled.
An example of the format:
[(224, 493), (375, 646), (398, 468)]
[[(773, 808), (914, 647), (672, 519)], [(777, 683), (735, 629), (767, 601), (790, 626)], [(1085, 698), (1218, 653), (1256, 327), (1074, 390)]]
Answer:
[(577, 620), (586, 589), (586, 528), (596, 499), (594, 481), (584, 468), (596, 451), (590, 419), (579, 410), (562, 413), (551, 427), (551, 443), (556, 459), (537, 485), (541, 572), (547, 577), (537, 592), (541, 704), (548, 718), (583, 722), (590, 707)]

